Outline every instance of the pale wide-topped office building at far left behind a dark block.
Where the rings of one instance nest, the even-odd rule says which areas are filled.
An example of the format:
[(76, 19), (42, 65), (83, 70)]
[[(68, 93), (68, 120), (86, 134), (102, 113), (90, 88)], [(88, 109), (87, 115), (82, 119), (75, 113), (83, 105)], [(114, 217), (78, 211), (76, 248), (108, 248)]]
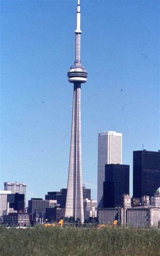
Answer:
[(26, 205), (26, 186), (23, 182), (4, 182), (4, 190), (11, 191), (12, 194), (24, 194), (24, 203)]

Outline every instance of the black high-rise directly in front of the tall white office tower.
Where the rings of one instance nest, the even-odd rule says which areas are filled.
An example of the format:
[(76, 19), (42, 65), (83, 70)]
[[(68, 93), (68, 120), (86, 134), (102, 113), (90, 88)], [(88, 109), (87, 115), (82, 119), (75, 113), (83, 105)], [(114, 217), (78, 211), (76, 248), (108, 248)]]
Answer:
[(129, 165), (106, 164), (103, 207), (121, 207), (123, 194), (129, 194)]

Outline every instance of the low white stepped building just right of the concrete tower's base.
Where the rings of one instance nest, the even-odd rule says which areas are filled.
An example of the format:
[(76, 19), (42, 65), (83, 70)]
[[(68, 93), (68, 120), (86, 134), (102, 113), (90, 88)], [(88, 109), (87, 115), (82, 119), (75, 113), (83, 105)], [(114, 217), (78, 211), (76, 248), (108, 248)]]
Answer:
[(89, 219), (89, 217), (97, 217), (97, 200), (89, 200), (86, 198), (83, 200), (84, 208), (84, 219)]

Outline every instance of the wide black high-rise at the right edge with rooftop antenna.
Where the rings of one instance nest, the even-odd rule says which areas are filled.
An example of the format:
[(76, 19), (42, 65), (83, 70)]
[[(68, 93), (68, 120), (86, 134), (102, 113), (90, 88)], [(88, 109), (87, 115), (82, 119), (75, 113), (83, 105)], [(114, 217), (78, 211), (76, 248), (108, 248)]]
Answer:
[(160, 151), (133, 151), (133, 198), (154, 196), (160, 187)]

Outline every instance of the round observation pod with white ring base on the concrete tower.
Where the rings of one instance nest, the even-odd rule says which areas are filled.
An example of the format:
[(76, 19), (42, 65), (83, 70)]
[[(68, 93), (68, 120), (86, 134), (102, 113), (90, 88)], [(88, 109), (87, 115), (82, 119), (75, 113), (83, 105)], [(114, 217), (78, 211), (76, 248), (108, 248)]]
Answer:
[(71, 66), (71, 69), (68, 72), (68, 77), (70, 83), (85, 83), (87, 82), (87, 71), (85, 70), (85, 67), (82, 66)]

